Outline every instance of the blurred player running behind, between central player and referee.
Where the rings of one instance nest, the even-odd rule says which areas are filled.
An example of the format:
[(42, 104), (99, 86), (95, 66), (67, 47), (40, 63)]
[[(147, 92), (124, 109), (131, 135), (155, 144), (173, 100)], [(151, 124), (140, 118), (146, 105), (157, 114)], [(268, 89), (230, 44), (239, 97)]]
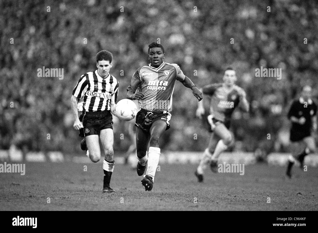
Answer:
[[(240, 108), (245, 112), (249, 111), (245, 91), (234, 84), (236, 80), (235, 70), (228, 67), (224, 72), (224, 83), (211, 84), (202, 88), (204, 95), (211, 96), (210, 109), (207, 109), (206, 101), (199, 102), (196, 115), (198, 117), (204, 116), (203, 120), (208, 122), (211, 136), (209, 146), (205, 149), (203, 158), (195, 172), (199, 182), (203, 181), (204, 169), (208, 163), (210, 163), (212, 172), (217, 172), (220, 153), (234, 142), (234, 137), (229, 131), (234, 109), (241, 103)], [(210, 114), (206, 114), (206, 112)]]

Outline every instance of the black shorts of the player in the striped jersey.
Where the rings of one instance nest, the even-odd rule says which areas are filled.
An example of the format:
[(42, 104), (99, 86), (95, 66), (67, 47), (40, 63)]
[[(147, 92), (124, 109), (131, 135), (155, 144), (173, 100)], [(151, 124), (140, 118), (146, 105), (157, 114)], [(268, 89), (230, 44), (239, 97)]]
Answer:
[(79, 130), (79, 137), (88, 135), (100, 135), (100, 131), (104, 129), (113, 129), (113, 116), (110, 111), (102, 112), (83, 112), (79, 116), (79, 120), (83, 122), (84, 128)]

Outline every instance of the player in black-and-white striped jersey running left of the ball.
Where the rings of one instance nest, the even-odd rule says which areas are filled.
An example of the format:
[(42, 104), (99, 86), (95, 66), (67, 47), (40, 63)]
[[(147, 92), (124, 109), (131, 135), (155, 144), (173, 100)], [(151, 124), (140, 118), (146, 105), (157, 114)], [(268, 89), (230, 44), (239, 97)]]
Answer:
[[(105, 151), (103, 161), (104, 184), (103, 192), (115, 192), (110, 187), (110, 179), (114, 171), (114, 134), (113, 115), (118, 94), (118, 81), (109, 74), (112, 67), (113, 54), (102, 50), (96, 54), (97, 70), (83, 74), (77, 82), (71, 105), (74, 129), (84, 128), (84, 137), (89, 151), (89, 158), (93, 162), (100, 160), (100, 144)], [(83, 98), (83, 112), (78, 117), (77, 99)], [(81, 132), (80, 132), (81, 133)]]

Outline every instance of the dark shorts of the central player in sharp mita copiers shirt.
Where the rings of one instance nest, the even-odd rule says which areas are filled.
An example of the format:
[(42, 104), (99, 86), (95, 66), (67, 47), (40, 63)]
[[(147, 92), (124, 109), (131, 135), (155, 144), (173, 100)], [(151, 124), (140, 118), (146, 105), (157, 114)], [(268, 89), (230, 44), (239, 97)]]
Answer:
[(140, 109), (136, 115), (135, 126), (141, 130), (149, 132), (152, 123), (155, 121), (164, 121), (167, 124), (166, 130), (170, 128), (169, 120), (171, 114), (168, 111), (151, 112), (145, 109)]

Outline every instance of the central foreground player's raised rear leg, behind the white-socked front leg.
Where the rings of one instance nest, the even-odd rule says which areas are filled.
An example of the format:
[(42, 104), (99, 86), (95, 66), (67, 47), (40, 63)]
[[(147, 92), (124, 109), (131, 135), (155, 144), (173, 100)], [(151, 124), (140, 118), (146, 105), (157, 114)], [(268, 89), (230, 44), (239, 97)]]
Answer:
[(137, 163), (137, 174), (143, 175), (146, 170), (146, 164), (148, 161), (148, 143), (150, 139), (150, 133), (136, 128), (136, 156), (139, 160)]

